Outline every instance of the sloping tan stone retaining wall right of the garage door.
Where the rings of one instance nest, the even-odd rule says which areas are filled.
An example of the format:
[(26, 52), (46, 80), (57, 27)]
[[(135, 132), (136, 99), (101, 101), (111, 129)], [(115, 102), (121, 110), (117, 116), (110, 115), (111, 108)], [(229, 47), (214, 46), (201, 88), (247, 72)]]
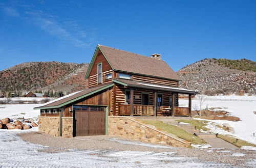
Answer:
[(190, 143), (180, 138), (167, 135), (150, 126), (129, 117), (109, 117), (109, 134), (124, 138), (136, 139), (145, 143), (166, 144), (175, 147), (188, 147)]

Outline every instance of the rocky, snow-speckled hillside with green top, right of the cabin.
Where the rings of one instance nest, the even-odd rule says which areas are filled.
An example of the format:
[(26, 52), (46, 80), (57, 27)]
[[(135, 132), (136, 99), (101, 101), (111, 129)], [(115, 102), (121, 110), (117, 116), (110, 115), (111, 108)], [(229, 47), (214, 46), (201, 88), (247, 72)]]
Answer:
[(204, 59), (178, 71), (180, 87), (206, 94), (256, 94), (256, 62), (227, 59)]

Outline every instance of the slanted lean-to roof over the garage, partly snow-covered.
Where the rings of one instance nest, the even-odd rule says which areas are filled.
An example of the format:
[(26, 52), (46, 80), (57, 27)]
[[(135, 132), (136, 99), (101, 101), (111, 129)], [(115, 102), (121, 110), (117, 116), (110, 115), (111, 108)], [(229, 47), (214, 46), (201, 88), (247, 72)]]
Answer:
[[(42, 106), (39, 106), (39, 107), (35, 107), (35, 109), (40, 109), (40, 108), (44, 108), (44, 107), (52, 107), (52, 106), (58, 106), (58, 105), (61, 105), (63, 103), (67, 103), (69, 101), (76, 101), (75, 99), (76, 98), (79, 98), (79, 97), (82, 97), (84, 95), (87, 95), (87, 94), (90, 94), (94, 91), (97, 91), (97, 90), (100, 90), (104, 87), (108, 87), (108, 86), (111, 86), (113, 83), (108, 83), (108, 84), (105, 84), (105, 85), (101, 85), (99, 87), (95, 87), (95, 88), (90, 88), (90, 89), (86, 89), (86, 90), (82, 90), (80, 92), (77, 92), (77, 93), (73, 93), (73, 94), (70, 94), (70, 95), (67, 95), (66, 98), (63, 98), (63, 97), (60, 97), (59, 100), (58, 99), (55, 99), (53, 100), (52, 102), (49, 102), (48, 104), (46, 105), (42, 105)], [(56, 101), (57, 100), (57, 101)]]

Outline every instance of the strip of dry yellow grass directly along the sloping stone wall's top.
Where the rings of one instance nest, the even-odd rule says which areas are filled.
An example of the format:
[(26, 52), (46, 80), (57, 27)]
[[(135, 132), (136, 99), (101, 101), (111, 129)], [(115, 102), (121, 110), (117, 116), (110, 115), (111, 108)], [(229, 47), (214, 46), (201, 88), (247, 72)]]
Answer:
[(203, 139), (199, 138), (198, 136), (192, 135), (187, 131), (185, 131), (184, 129), (179, 128), (177, 126), (169, 125), (169, 124), (163, 123), (162, 121), (154, 121), (154, 120), (143, 120), (141, 122), (145, 124), (153, 125), (161, 130), (172, 133), (182, 139), (185, 139), (186, 141), (191, 142), (192, 144), (206, 144), (206, 142)]

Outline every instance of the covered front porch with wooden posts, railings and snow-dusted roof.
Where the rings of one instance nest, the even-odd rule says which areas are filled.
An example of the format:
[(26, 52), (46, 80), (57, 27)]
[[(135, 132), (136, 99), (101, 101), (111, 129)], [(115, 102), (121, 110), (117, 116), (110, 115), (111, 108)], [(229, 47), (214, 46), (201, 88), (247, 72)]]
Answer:
[[(148, 82), (115, 79), (125, 88), (125, 103), (118, 104), (118, 116), (191, 116), (191, 97), (198, 92)], [(127, 94), (126, 92), (129, 92)], [(188, 95), (188, 106), (180, 107), (178, 95)], [(127, 97), (129, 97), (127, 99)]]

